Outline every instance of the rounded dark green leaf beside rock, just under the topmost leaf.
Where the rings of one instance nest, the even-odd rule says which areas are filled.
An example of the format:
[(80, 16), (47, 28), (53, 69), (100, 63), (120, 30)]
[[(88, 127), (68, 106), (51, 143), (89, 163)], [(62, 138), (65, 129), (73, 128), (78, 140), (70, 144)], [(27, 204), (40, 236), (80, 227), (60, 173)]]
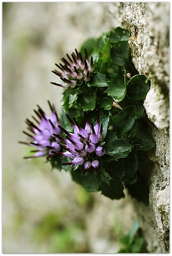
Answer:
[(110, 52), (111, 60), (119, 66), (124, 66), (129, 60), (129, 44), (127, 41), (119, 41), (113, 44)]

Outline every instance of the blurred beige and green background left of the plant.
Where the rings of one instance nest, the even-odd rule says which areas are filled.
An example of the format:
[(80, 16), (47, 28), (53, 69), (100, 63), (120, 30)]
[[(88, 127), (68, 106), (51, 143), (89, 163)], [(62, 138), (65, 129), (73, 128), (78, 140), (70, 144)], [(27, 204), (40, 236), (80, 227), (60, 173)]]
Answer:
[[(89, 37), (115, 27), (108, 3), (3, 3), (3, 253), (116, 253), (136, 215), (127, 198), (87, 193), (44, 158), (23, 160), (25, 118), (47, 100), (60, 113), (51, 70)], [(124, 217), (122, 217), (124, 216)]]

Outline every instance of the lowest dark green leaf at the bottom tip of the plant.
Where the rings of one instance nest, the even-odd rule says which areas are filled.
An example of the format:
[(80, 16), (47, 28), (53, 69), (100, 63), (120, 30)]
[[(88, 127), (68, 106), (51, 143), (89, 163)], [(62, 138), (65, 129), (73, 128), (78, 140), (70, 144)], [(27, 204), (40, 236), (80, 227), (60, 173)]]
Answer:
[(102, 190), (103, 195), (111, 199), (120, 199), (120, 198), (124, 198), (125, 196), (123, 193), (122, 183), (116, 180), (109, 180), (109, 185), (102, 181), (100, 190)]

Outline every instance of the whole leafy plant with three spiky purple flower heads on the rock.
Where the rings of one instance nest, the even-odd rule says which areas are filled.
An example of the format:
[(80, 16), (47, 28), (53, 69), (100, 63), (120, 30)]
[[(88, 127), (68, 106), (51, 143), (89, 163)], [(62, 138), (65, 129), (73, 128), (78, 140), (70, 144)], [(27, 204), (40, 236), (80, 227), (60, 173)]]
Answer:
[[(149, 81), (131, 62), (129, 36), (118, 27), (62, 58), (52, 71), (62, 82), (51, 82), (64, 88), (61, 117), (57, 119), (50, 105), (56, 119), (40, 108), (37, 126), (26, 119), (31, 132), (49, 134), (47, 145), (42, 137), (41, 152), (53, 169), (69, 171), (86, 190), (101, 191), (111, 199), (123, 198), (124, 186), (137, 181), (137, 151), (154, 147), (141, 120)], [(26, 134), (40, 152), (43, 142)]]

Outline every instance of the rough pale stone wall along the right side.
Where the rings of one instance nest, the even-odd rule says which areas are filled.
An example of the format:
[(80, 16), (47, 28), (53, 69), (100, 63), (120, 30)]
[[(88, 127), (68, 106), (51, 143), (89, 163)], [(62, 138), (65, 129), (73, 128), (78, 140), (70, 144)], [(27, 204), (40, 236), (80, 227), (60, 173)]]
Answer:
[[(131, 31), (132, 62), (151, 81), (144, 100), (156, 147), (148, 151), (149, 206), (131, 199), (150, 253), (169, 252), (169, 3), (109, 3), (114, 27)], [(163, 15), (162, 15), (163, 14)], [(146, 160), (145, 160), (146, 161)], [(143, 161), (144, 166), (144, 161)]]

